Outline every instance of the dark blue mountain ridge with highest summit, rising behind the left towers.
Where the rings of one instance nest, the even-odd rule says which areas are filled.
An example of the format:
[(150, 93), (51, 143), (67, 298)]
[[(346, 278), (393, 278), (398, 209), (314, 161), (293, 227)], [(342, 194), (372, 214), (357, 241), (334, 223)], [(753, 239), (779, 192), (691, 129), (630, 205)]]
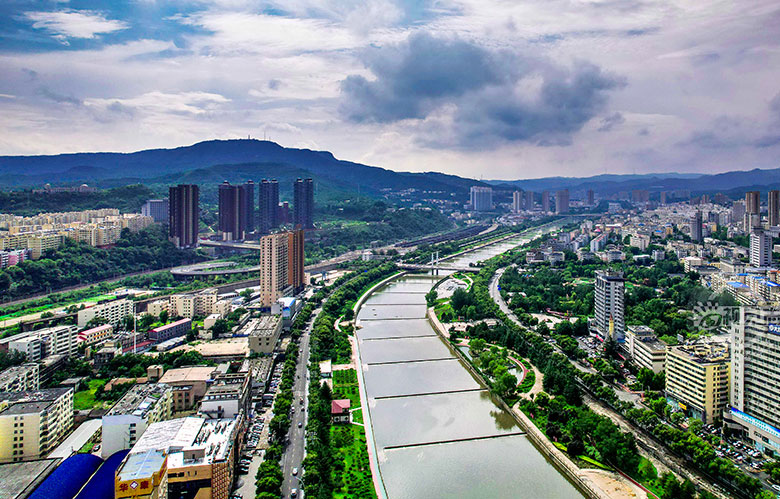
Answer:
[[(336, 159), (327, 151), (293, 149), (270, 141), (210, 140), (175, 149), (151, 149), (134, 153), (77, 153), (55, 156), (0, 156), (0, 186), (31, 186), (46, 182), (101, 182), (122, 179), (124, 184), (195, 181), (213, 175), (204, 169), (241, 165), (268, 169), (274, 176), (285, 170), (336, 183), (345, 190), (366, 193), (381, 189), (417, 188), (465, 194), (481, 182), (441, 173), (395, 172), (385, 168)], [(190, 172), (190, 173), (186, 173)], [(193, 173), (194, 172), (194, 173)], [(253, 178), (253, 180), (259, 180)]]

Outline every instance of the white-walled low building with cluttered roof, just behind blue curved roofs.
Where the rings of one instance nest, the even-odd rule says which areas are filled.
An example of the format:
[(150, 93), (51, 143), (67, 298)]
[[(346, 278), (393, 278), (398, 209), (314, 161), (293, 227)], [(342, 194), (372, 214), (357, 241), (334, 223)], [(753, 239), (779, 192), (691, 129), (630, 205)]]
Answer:
[(173, 390), (163, 383), (135, 385), (103, 416), (101, 455), (131, 448), (152, 423), (170, 419)]

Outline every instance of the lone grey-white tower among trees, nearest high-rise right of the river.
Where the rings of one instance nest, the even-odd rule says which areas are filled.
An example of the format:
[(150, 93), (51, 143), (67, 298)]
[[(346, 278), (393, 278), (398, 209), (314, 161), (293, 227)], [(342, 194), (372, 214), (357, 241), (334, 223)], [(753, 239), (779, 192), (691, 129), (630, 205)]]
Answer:
[(625, 279), (622, 272), (596, 271), (595, 284), (596, 330), (606, 339), (617, 342), (625, 339)]

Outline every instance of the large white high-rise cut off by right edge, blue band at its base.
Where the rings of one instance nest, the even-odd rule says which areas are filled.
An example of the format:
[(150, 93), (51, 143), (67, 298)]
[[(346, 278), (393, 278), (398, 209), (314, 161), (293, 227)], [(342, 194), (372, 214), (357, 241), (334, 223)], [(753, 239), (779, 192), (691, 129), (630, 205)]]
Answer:
[(729, 426), (757, 449), (780, 454), (780, 312), (742, 307), (732, 328)]

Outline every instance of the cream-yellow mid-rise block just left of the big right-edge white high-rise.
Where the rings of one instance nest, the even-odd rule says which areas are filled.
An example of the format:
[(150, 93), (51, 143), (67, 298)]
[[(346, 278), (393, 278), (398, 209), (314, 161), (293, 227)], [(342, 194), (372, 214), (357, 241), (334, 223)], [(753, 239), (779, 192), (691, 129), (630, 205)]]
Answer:
[(729, 402), (727, 343), (670, 347), (666, 354), (666, 395), (689, 416), (720, 420)]

